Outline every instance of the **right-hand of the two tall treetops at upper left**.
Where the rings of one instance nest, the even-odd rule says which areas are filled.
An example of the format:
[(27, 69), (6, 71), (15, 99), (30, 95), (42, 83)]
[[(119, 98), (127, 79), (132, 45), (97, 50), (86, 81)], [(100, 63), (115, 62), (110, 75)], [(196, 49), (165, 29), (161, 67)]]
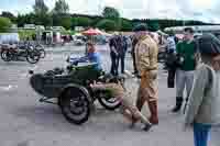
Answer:
[(57, 0), (55, 2), (54, 13), (66, 14), (69, 11), (69, 5), (65, 0)]

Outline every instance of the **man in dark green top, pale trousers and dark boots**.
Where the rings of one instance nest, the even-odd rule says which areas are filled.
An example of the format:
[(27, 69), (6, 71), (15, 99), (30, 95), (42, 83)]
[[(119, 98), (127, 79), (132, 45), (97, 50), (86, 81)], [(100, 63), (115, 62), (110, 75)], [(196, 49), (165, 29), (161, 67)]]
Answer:
[(196, 52), (197, 46), (194, 41), (194, 30), (186, 27), (184, 30), (184, 41), (179, 42), (176, 47), (177, 56), (179, 57), (178, 68), (176, 71), (176, 105), (173, 112), (179, 112), (184, 101), (184, 90), (186, 88), (188, 100), (193, 81), (194, 71), (196, 69)]

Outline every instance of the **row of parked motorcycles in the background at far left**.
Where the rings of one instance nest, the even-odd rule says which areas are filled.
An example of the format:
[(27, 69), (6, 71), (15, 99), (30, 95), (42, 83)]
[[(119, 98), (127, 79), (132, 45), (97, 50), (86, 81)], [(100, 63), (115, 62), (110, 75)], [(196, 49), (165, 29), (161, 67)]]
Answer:
[(4, 61), (24, 61), (36, 64), (45, 58), (46, 52), (41, 44), (24, 42), (13, 45), (1, 45), (1, 59)]

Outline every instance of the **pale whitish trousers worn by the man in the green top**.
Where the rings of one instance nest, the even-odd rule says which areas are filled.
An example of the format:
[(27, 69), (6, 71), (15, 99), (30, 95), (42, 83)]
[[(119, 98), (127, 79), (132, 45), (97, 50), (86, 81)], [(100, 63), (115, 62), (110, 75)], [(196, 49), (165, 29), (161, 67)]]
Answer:
[(186, 88), (187, 98), (191, 91), (194, 83), (194, 71), (184, 71), (178, 69), (176, 71), (176, 97), (184, 98), (184, 90)]

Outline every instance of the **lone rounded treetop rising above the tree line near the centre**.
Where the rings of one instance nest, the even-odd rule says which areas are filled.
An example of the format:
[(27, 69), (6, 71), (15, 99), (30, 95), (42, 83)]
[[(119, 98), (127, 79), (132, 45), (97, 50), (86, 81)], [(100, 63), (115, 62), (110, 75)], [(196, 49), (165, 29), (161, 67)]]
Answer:
[(120, 18), (120, 13), (117, 9), (112, 7), (106, 7), (103, 9), (102, 16), (106, 19), (118, 19)]

